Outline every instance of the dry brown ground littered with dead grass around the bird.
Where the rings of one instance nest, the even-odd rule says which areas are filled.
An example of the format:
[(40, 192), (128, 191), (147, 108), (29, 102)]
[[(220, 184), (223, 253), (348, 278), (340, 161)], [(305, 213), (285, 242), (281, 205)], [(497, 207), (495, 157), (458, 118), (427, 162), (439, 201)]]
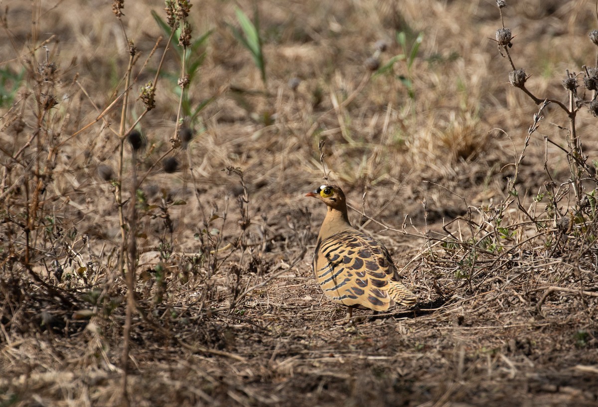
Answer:
[[(568, 104), (566, 69), (596, 60), (595, 5), (510, 3), (527, 89)], [(193, 38), (212, 32), (192, 56), (205, 53), (190, 104), (213, 99), (185, 117), (187, 148), (171, 148), (181, 64), (166, 54), (138, 126), (133, 222), (127, 142), (118, 176), (123, 32), (140, 55), (131, 126), (166, 44), (144, 66), (163, 2), (124, 2), (124, 30), (107, 1), (1, 3), (0, 405), (124, 402), (119, 179), (138, 263), (130, 405), (596, 405), (596, 201), (570, 187), (556, 103), (526, 145), (539, 107), (509, 85), (496, 2), (255, 2), (266, 83), (233, 35), (236, 4), (253, 16), (254, 2), (193, 2)], [(371, 72), (373, 56), (399, 57)], [(596, 189), (598, 133), (580, 106), (582, 197)], [(325, 209), (304, 198), (322, 183), (322, 139), (350, 219), (389, 247), (416, 309), (343, 323), (322, 297), (310, 261)]]

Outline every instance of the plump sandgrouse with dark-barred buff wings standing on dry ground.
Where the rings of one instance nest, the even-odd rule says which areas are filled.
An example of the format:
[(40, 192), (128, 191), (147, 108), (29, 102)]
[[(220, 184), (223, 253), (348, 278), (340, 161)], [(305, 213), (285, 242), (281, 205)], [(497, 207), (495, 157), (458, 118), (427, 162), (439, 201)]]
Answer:
[(324, 294), (336, 303), (386, 311), (396, 303), (411, 306), (415, 294), (399, 282), (398, 271), (382, 242), (355, 229), (347, 217), (344, 193), (336, 185), (322, 185), (305, 196), (328, 206), (322, 222), (313, 271)]

